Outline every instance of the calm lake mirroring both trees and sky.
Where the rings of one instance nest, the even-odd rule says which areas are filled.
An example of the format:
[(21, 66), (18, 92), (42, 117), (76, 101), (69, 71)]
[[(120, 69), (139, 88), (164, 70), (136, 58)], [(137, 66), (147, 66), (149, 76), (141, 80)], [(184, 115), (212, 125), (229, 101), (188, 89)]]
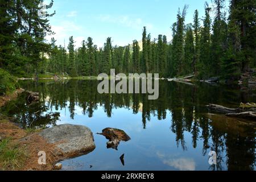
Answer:
[[(255, 169), (256, 126), (209, 114), (205, 105), (256, 102), (256, 89), (159, 81), (159, 99), (147, 100), (147, 94), (98, 94), (97, 85), (96, 80), (20, 81), (22, 88), (40, 93), (40, 102), (28, 105), (22, 94), (1, 113), (23, 128), (89, 127), (96, 149), (61, 162), (64, 170)], [(131, 140), (120, 142), (118, 150), (106, 148), (106, 138), (96, 134), (106, 127), (124, 130)], [(208, 162), (211, 150), (217, 165)]]

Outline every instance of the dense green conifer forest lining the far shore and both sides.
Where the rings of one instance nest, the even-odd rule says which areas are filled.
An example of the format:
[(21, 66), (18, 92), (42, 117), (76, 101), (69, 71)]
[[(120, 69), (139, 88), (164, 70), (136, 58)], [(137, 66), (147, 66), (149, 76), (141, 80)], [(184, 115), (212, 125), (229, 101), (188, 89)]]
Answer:
[(218, 76), (236, 81), (256, 67), (255, 0), (231, 0), (226, 5), (228, 12), (224, 0), (213, 0), (214, 9), (205, 2), (205, 13), (195, 10), (189, 24), (185, 24), (189, 8), (185, 5), (170, 25), (171, 42), (166, 35), (152, 38), (147, 27), (142, 27), (142, 40), (125, 47), (113, 46), (112, 38), (97, 47), (89, 37), (79, 48), (75, 48), (73, 36), (67, 47), (56, 45), (54, 38), (46, 43), (46, 35), (53, 34), (49, 17), (55, 12), (48, 13), (53, 11), (53, 1), (47, 6), (42, 3), (0, 1), (2, 75), (7, 71), (18, 77), (45, 73), (97, 76), (115, 68), (116, 73), (159, 73), (165, 78), (195, 73), (198, 79)]

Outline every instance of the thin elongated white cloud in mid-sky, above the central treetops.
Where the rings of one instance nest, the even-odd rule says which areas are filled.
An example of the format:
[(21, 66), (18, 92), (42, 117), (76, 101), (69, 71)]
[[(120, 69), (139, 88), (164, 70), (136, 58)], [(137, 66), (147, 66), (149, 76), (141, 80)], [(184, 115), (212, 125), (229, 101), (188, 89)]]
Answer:
[(100, 19), (102, 22), (117, 23), (117, 24), (121, 24), (122, 26), (139, 29), (139, 30), (142, 29), (143, 26), (146, 26), (147, 28), (153, 27), (153, 25), (150, 23), (144, 23), (141, 18), (131, 18), (128, 15), (122, 15), (122, 16), (100, 15), (98, 16), (98, 19)]

